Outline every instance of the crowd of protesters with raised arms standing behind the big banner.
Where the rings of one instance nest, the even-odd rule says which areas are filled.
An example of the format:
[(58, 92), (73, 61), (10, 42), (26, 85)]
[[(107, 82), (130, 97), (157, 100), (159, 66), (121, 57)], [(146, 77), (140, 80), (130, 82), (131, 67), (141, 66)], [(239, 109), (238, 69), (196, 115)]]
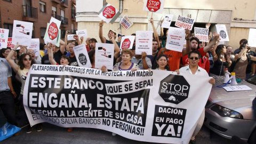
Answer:
[[(234, 51), (232, 46), (219, 45), (220, 35), (210, 33), (209, 42), (199, 42), (197, 37), (191, 36), (190, 30), (186, 29), (186, 49), (182, 52), (167, 50), (166, 37), (168, 29), (161, 29), (161, 35), (158, 36), (154, 26), (154, 20), (151, 18), (150, 23), (153, 27), (153, 45), (152, 54), (147, 55), (146, 52), (135, 54), (135, 39), (132, 49), (120, 50), (120, 42), (124, 35), (116, 34), (114, 30), (109, 30), (108, 39), (103, 36), (103, 21), (99, 23), (99, 38), (101, 43), (114, 44), (114, 63), (113, 71), (120, 70), (166, 70), (176, 71), (179, 73), (187, 73), (193, 75), (210, 76), (209, 83), (222, 83), (225, 79), (225, 73), (235, 72), (237, 78), (245, 79), (255, 74), (256, 54), (251, 51), (246, 39), (239, 42), (239, 49)], [(210, 23), (206, 24), (206, 28), (210, 28)], [(78, 66), (76, 55), (73, 47), (86, 43), (86, 50), (89, 54), (92, 67), (95, 68), (95, 44), (97, 37), (86, 38), (83, 42), (83, 37), (74, 35), (76, 41), (68, 43), (68, 31), (65, 36), (65, 41), (60, 42), (57, 47), (51, 43), (40, 44), (40, 55), (35, 57), (35, 52), (32, 49), (27, 49), (26, 46), (15, 44), (13, 49), (7, 47), (1, 49), (0, 58), (0, 106), (7, 119), (11, 124), (17, 125), (15, 117), (14, 102), (19, 103), (20, 110), (25, 113), (23, 108), (23, 89), (30, 67), (36, 64), (42, 65), (68, 65)], [(136, 36), (135, 34), (131, 34)], [(116, 42), (117, 39), (117, 42)], [(184, 40), (185, 40), (184, 39)], [(17, 48), (20, 47), (19, 50)], [(121, 54), (120, 54), (121, 52)], [(106, 66), (101, 67), (102, 71), (109, 71)], [(11, 97), (13, 96), (13, 98)], [(202, 127), (204, 119), (204, 111), (199, 118), (196, 130), (191, 138), (190, 143), (195, 143), (195, 136)], [(27, 123), (28, 119), (26, 119)], [(42, 131), (42, 124), (35, 126), (36, 130)], [(28, 126), (27, 133), (30, 133), (33, 127)], [(71, 132), (73, 128), (69, 128)]]

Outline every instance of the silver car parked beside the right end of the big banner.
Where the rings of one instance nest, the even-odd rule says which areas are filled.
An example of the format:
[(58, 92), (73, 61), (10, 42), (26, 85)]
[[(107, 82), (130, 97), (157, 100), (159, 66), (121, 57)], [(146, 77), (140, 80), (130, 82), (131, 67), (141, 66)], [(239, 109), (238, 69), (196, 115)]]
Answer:
[(247, 85), (252, 90), (227, 92), (213, 85), (205, 106), (204, 125), (224, 138), (231, 139), (236, 135), (255, 144), (256, 111), (253, 111), (252, 101), (255, 98), (256, 76), (238, 85)]

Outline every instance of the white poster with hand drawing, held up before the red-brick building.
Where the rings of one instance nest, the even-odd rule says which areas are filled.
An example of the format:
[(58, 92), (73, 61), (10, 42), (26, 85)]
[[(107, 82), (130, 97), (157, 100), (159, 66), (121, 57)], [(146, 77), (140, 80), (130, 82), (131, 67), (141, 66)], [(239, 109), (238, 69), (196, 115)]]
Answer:
[(12, 30), (12, 43), (15, 45), (18, 42), (19, 45), (29, 46), (31, 43), (32, 30), (32, 22), (14, 20)]

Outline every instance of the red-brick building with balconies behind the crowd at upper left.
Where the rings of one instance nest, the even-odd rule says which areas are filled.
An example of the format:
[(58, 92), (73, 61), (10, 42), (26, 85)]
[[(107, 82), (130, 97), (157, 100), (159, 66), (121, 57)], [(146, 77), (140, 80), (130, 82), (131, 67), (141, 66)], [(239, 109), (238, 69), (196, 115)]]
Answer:
[(61, 38), (66, 30), (75, 33), (76, 1), (70, 0), (0, 0), (0, 27), (9, 29), (12, 37), (13, 20), (33, 22), (33, 38), (44, 43), (44, 34), (51, 17), (61, 21)]

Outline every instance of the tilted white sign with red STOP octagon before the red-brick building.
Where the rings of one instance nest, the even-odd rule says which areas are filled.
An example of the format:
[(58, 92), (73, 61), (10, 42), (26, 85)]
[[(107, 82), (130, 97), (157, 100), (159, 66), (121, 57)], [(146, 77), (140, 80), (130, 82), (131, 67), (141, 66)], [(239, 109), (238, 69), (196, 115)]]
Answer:
[(56, 46), (60, 45), (60, 23), (61, 21), (51, 18), (50, 23), (47, 23), (44, 40), (48, 43), (52, 43)]

